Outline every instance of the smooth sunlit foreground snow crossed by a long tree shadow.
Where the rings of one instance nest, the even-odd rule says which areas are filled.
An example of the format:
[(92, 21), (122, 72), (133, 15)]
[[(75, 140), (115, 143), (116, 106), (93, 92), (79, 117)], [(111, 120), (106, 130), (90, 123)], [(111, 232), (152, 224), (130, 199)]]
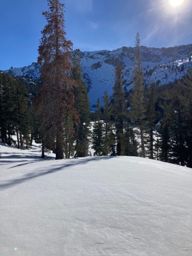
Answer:
[(192, 169), (3, 145), (1, 256), (192, 255)]

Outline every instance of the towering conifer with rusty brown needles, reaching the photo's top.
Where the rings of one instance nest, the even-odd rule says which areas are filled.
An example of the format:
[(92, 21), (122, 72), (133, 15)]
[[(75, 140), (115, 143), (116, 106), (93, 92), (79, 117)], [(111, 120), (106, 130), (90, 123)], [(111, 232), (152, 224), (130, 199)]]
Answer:
[(41, 133), (44, 145), (51, 147), (56, 139), (56, 158), (63, 158), (63, 123), (70, 108), (74, 122), (79, 118), (74, 108), (73, 88), (76, 82), (72, 73), (70, 52), (72, 42), (66, 39), (64, 4), (48, 0), (49, 10), (43, 12), (47, 20), (38, 49), (42, 86), (37, 100), (41, 116)]

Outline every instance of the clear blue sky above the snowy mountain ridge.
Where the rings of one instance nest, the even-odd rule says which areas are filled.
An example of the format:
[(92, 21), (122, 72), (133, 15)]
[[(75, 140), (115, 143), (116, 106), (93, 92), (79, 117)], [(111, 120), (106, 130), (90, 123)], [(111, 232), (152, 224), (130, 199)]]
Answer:
[[(171, 0), (60, 0), (65, 3), (67, 37), (74, 49), (114, 50), (141, 45), (169, 47), (192, 43), (192, 4), (184, 0), (172, 7)], [(42, 12), (46, 0), (1, 1), (0, 69), (23, 67), (36, 61)]]

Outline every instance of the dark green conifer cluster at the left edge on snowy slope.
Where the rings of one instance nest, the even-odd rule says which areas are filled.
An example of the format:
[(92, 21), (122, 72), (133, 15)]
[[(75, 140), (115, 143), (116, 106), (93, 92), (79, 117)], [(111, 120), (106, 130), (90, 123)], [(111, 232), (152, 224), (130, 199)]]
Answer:
[(12, 135), (17, 135), (18, 148), (30, 147), (30, 99), (19, 80), (8, 74), (0, 74), (0, 132), (1, 140), (8, 145)]

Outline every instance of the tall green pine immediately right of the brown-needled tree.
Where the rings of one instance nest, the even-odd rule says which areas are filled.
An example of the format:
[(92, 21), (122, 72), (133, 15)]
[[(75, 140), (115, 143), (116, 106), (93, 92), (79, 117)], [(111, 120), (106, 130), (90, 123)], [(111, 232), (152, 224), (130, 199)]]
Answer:
[(81, 73), (81, 55), (77, 50), (73, 55), (73, 78), (78, 84), (74, 88), (75, 95), (75, 108), (77, 110), (80, 123), (75, 124), (76, 129), (76, 157), (88, 156), (89, 149), (89, 126), (90, 126), (90, 110), (89, 110), (89, 97), (87, 93), (86, 84), (83, 82)]

